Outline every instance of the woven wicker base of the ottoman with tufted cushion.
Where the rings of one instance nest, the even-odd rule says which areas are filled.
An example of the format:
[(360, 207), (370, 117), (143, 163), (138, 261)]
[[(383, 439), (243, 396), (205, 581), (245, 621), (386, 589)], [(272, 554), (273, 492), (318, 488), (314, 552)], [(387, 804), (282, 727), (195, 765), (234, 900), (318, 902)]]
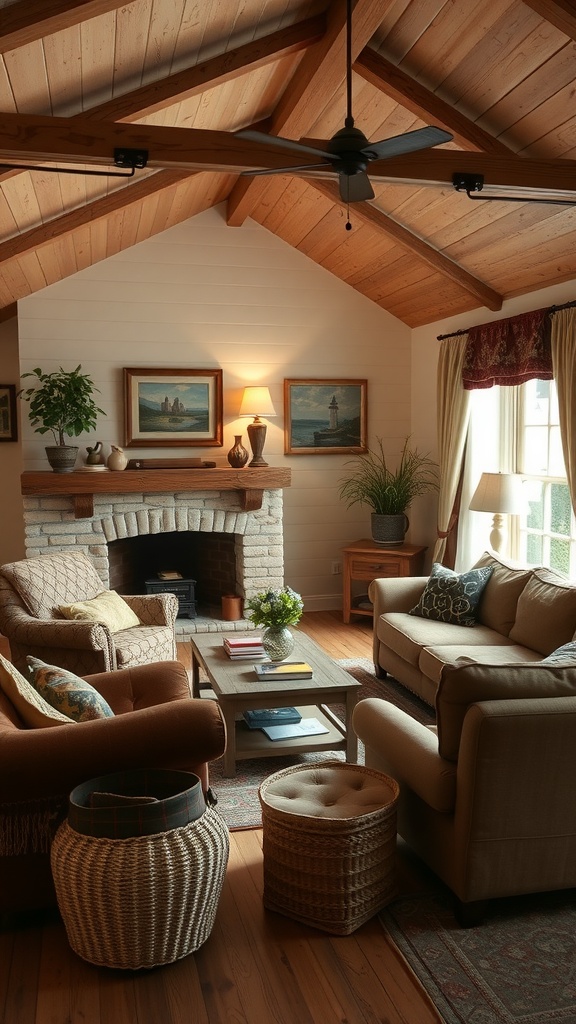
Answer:
[[(269, 802), (278, 781), (288, 775), (340, 770), (358, 773), (359, 784), (361, 776), (377, 778), (389, 799), (377, 810), (348, 817), (297, 814)], [(321, 762), (276, 772), (262, 782), (258, 795), (268, 909), (335, 935), (349, 935), (395, 896), (395, 779), (359, 765)]]

